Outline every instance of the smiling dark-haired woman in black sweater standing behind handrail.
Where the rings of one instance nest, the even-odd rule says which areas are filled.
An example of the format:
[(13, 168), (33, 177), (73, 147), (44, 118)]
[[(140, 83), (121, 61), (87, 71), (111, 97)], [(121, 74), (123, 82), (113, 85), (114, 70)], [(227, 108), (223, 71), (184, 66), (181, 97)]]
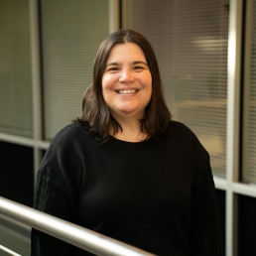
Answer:
[[(35, 207), (157, 255), (221, 255), (207, 152), (171, 121), (158, 64), (139, 33), (100, 45), (82, 116), (52, 142)], [(91, 255), (32, 232), (32, 255)]]

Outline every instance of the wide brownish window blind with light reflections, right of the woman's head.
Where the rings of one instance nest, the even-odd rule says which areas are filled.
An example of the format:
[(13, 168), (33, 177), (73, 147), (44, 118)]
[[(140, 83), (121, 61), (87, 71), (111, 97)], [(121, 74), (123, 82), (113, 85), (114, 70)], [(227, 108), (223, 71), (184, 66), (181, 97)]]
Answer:
[(141, 32), (159, 61), (173, 119), (187, 124), (225, 176), (228, 0), (123, 2), (123, 27)]

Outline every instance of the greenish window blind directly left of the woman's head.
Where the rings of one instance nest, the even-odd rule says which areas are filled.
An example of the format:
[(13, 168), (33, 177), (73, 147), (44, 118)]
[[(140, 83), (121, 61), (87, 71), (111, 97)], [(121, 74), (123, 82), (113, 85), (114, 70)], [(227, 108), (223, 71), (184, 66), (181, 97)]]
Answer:
[(100, 42), (108, 35), (108, 1), (44, 0), (42, 10), (45, 139), (81, 114)]

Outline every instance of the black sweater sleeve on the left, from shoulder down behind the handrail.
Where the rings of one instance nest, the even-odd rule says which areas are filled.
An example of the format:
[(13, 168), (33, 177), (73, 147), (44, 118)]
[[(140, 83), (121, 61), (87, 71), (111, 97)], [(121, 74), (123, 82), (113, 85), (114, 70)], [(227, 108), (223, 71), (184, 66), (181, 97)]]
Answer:
[[(89, 168), (89, 154), (94, 140), (76, 124), (61, 130), (51, 143), (37, 175), (34, 207), (78, 224), (77, 200), (84, 170)], [(86, 160), (84, 158), (86, 157)], [(32, 253), (35, 256), (75, 255), (78, 248), (33, 229)]]

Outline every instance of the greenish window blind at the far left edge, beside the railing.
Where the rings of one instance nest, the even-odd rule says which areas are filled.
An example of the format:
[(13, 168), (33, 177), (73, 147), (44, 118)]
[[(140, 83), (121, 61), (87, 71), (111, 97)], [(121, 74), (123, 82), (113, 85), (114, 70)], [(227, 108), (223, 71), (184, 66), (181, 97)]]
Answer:
[(33, 137), (28, 0), (0, 1), (0, 132)]

